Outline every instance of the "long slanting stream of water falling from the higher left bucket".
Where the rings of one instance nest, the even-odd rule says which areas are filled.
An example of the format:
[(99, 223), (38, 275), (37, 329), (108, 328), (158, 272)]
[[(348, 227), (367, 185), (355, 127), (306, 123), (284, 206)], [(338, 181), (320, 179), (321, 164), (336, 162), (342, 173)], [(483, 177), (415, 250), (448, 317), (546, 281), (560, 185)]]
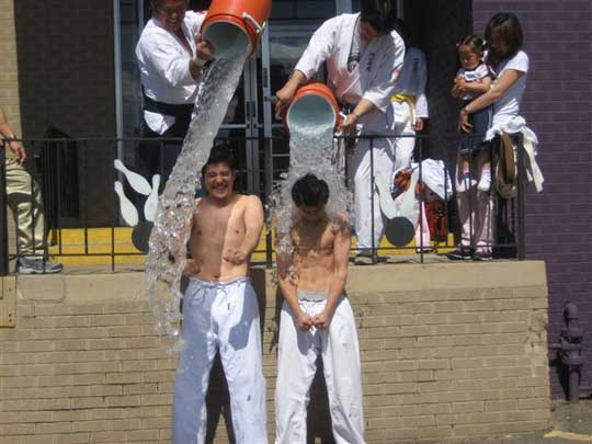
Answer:
[[(246, 52), (244, 52), (246, 54)], [(201, 187), (201, 169), (207, 161), (228, 103), (237, 89), (244, 57), (218, 59), (204, 71), (194, 116), (183, 149), (160, 196), (146, 259), (146, 287), (160, 334), (172, 338), (178, 349), (183, 297), (181, 277), (186, 262), (190, 221), (196, 210), (195, 192)]]

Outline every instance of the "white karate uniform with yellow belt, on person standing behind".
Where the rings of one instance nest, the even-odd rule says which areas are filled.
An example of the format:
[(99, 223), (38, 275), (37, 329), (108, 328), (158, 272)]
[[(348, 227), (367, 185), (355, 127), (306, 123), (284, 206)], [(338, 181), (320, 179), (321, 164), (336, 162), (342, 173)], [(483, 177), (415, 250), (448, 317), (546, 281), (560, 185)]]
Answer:
[(411, 163), (415, 146), (415, 119), (429, 117), (426, 81), (425, 55), (418, 48), (407, 48), (403, 67), (395, 86), (395, 95), (391, 98), (395, 136), (408, 136), (395, 139), (395, 171)]

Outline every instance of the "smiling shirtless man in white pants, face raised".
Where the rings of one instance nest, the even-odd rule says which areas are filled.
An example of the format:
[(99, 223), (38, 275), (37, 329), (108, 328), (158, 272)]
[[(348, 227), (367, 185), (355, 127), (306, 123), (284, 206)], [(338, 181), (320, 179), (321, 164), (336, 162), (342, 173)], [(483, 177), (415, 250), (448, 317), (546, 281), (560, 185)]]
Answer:
[(197, 200), (184, 274), (183, 340), (173, 401), (173, 444), (202, 444), (206, 435), (209, 373), (216, 352), (230, 392), (238, 444), (266, 444), (259, 306), (247, 276), (263, 228), (257, 196), (236, 194), (230, 150), (214, 147), (202, 170), (207, 190)]

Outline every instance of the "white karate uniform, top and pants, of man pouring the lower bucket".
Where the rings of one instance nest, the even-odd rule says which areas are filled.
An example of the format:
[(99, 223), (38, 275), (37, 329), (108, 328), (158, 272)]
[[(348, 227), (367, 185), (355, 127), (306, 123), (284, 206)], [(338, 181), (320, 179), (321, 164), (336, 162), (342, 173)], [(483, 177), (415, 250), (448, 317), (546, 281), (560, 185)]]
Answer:
[[(358, 121), (362, 136), (390, 135), (392, 106), (390, 96), (402, 67), (405, 44), (395, 31), (373, 38), (360, 54), (360, 61), (348, 69), (354, 33), (360, 14), (342, 14), (326, 21), (312, 35), (308, 47), (296, 65), (307, 79), (327, 62), (328, 84), (341, 104), (353, 107), (362, 99), (371, 101), (376, 109)], [(390, 138), (372, 141), (374, 147), (374, 174), (390, 177), (392, 172), (394, 145)], [(357, 246), (362, 249), (377, 248), (384, 234), (384, 220), (379, 197), (371, 177), (371, 140), (357, 139), (354, 152), (355, 230)], [(374, 212), (371, 196), (374, 195)], [(374, 214), (374, 236), (372, 215)]]

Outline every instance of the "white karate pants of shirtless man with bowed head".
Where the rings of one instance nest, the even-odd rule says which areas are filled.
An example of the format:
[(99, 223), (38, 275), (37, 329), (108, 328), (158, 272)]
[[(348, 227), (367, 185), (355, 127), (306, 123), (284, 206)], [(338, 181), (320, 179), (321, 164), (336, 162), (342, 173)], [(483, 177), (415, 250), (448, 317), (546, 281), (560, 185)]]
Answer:
[[(326, 301), (300, 300), (310, 316), (322, 311)], [(286, 303), (280, 321), (277, 383), (275, 388), (276, 444), (306, 444), (306, 408), (319, 353), (338, 444), (364, 443), (362, 371), (352, 307), (341, 298), (327, 331), (296, 328)]]

